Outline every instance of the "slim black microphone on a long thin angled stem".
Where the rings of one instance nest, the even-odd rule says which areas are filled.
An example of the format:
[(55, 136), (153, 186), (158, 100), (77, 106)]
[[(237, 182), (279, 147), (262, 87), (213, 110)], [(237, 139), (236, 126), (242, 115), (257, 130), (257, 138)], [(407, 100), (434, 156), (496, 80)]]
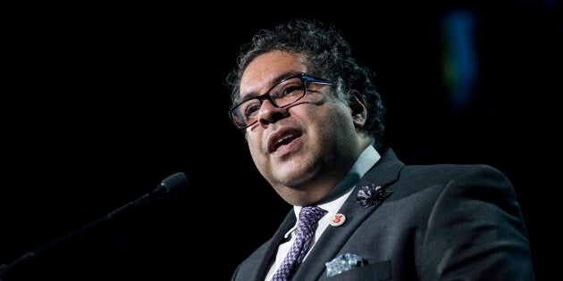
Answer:
[[(0, 277), (3, 277), (8, 270), (13, 269), (15, 266), (23, 263), (24, 261), (31, 260), (32, 258), (38, 256), (38, 254), (42, 252), (46, 252), (47, 250), (54, 248), (55, 245), (61, 244), (62, 242), (69, 240), (72, 237), (78, 236), (86, 232), (88, 229), (96, 227), (97, 225), (100, 225), (101, 223), (109, 219), (112, 219), (116, 215), (119, 215), (125, 211), (130, 211), (131, 209), (145, 202), (162, 199), (166, 195), (178, 194), (183, 188), (187, 186), (188, 186), (188, 178), (186, 177), (186, 175), (182, 172), (174, 173), (171, 176), (164, 178), (163, 181), (160, 183), (160, 185), (156, 186), (156, 188), (150, 193), (144, 194), (139, 198), (137, 198), (136, 200), (133, 200), (131, 202), (126, 203), (125, 205), (122, 205), (122, 207), (119, 207), (114, 211), (107, 213), (105, 216), (90, 222), (85, 227), (80, 227), (79, 229), (76, 229), (65, 236), (55, 239), (49, 244), (46, 244), (38, 248), (36, 251), (27, 252), (23, 254), (20, 258), (13, 260), (10, 263), (0, 265)], [(1, 278), (0, 281), (2, 281)]]

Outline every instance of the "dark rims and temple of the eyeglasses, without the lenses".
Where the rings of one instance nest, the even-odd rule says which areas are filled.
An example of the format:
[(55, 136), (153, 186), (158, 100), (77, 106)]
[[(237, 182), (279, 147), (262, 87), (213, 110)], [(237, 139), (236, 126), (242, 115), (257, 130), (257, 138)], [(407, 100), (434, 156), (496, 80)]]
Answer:
[[(303, 86), (304, 86), (304, 87), (303, 87), (303, 95), (301, 95), (300, 97), (298, 97), (298, 99), (296, 99), (295, 101), (293, 101), (293, 102), (291, 102), (291, 103), (288, 103), (288, 104), (285, 104), (285, 105), (283, 105), (283, 106), (280, 106), (280, 105), (278, 105), (277, 103), (275, 103), (275, 102), (273, 101), (273, 99), (272, 99), (272, 96), (270, 95), (270, 92), (272, 91), (272, 89), (273, 89), (274, 87), (278, 87), (281, 83), (283, 83), (283, 82), (285, 82), (285, 81), (287, 81), (287, 80), (289, 80), (289, 79), (296, 79), (296, 78), (300, 79), (300, 80), (301, 80), (301, 83), (303, 83)], [(246, 98), (246, 99), (240, 101), (239, 103), (235, 104), (235, 105), (232, 106), (231, 109), (229, 110), (229, 119), (231, 119), (231, 122), (235, 125), (236, 128), (239, 128), (239, 129), (248, 128), (248, 127), (250, 127), (250, 126), (256, 124), (256, 122), (258, 121), (258, 119), (256, 119), (254, 122), (252, 122), (252, 123), (250, 123), (250, 124), (247, 124), (247, 125), (244, 126), (244, 127), (239, 127), (239, 125), (237, 124), (237, 122), (234, 120), (234, 118), (233, 118), (233, 116), (232, 116), (233, 112), (234, 112), (242, 103), (246, 103), (246, 102), (248, 102), (248, 101), (250, 101), (250, 100), (257, 99), (257, 100), (260, 102), (260, 106), (262, 106), (262, 104), (264, 103), (264, 101), (265, 101), (265, 100), (268, 100), (268, 101), (270, 101), (270, 103), (272, 103), (273, 106), (275, 106), (275, 107), (277, 107), (277, 108), (285, 108), (285, 107), (290, 106), (290, 105), (293, 104), (293, 103), (297, 103), (297, 102), (300, 101), (305, 95), (307, 95), (307, 82), (313, 83), (313, 84), (320, 84), (320, 85), (330, 85), (330, 86), (333, 86), (333, 85), (334, 85), (334, 83), (333, 83), (331, 80), (322, 79), (322, 78), (317, 78), (317, 77), (314, 77), (314, 76), (307, 75), (306, 73), (299, 73), (299, 74), (297, 74), (297, 75), (290, 76), (290, 77), (288, 77), (288, 78), (286, 78), (286, 79), (281, 79), (280, 81), (278, 81), (277, 83), (275, 83), (275, 84), (273, 85), (273, 87), (270, 87), (270, 88), (269, 88), (264, 94), (262, 94), (262, 95), (251, 96), (251, 97), (248, 97), (248, 98)]]

